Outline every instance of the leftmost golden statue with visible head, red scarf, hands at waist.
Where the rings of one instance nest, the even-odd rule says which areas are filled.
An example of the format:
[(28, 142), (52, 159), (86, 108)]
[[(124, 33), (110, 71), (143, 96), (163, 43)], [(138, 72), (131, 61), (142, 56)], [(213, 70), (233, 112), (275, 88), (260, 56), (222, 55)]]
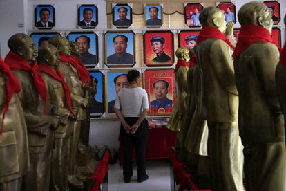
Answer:
[(44, 114), (47, 92), (37, 73), (35, 43), (28, 35), (18, 33), (10, 37), (8, 46), (10, 52), (5, 62), (19, 81), (21, 91), (18, 96), (28, 131), (30, 168), (23, 178), (21, 190), (49, 190), (54, 130), (59, 120)]

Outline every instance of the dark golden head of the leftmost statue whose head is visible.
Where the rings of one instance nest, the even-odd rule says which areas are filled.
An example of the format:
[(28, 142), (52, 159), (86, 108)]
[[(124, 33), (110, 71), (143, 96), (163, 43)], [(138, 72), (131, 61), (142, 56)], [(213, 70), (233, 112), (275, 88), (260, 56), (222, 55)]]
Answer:
[(37, 57), (35, 42), (28, 35), (23, 33), (12, 35), (8, 40), (8, 47), (10, 51), (21, 56), (28, 63), (35, 63)]

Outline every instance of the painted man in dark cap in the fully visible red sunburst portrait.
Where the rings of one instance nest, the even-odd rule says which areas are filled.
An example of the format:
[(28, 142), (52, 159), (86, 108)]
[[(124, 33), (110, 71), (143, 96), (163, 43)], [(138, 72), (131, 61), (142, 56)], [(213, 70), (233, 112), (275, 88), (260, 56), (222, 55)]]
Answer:
[(152, 59), (153, 62), (168, 62), (171, 60), (169, 55), (164, 53), (165, 39), (162, 36), (153, 36), (150, 40), (152, 50), (156, 53), (156, 57)]

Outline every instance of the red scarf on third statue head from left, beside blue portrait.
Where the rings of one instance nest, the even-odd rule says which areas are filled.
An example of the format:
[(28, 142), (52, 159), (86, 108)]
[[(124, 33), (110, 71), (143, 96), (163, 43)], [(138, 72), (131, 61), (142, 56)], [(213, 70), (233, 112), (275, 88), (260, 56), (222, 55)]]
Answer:
[(63, 53), (59, 53), (59, 57), (61, 62), (69, 62), (75, 69), (77, 69), (77, 73), (79, 74), (79, 78), (82, 81), (82, 84), (85, 84), (86, 82), (88, 84), (91, 83), (90, 81), (90, 75), (88, 70), (86, 69), (86, 66), (80, 62), (77, 57), (74, 55), (70, 55), (69, 57), (64, 55)]

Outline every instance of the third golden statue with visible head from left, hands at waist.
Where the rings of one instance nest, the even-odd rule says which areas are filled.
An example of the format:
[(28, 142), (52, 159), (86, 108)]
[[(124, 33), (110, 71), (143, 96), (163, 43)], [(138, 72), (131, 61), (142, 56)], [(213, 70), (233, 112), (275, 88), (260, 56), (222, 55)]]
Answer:
[(88, 99), (84, 98), (84, 91), (82, 89), (82, 81), (79, 79), (79, 73), (71, 64), (73, 60), (70, 59), (71, 48), (68, 39), (57, 35), (51, 37), (49, 43), (53, 44), (59, 50), (60, 61), (58, 69), (64, 75), (66, 84), (68, 84), (71, 91), (71, 101), (76, 120), (73, 123), (73, 136), (70, 138), (68, 185), (70, 188), (80, 188), (83, 186), (83, 182), (80, 179), (84, 179), (84, 177), (77, 173), (77, 147), (79, 145), (81, 122), (86, 120), (86, 111), (84, 108), (88, 104)]

